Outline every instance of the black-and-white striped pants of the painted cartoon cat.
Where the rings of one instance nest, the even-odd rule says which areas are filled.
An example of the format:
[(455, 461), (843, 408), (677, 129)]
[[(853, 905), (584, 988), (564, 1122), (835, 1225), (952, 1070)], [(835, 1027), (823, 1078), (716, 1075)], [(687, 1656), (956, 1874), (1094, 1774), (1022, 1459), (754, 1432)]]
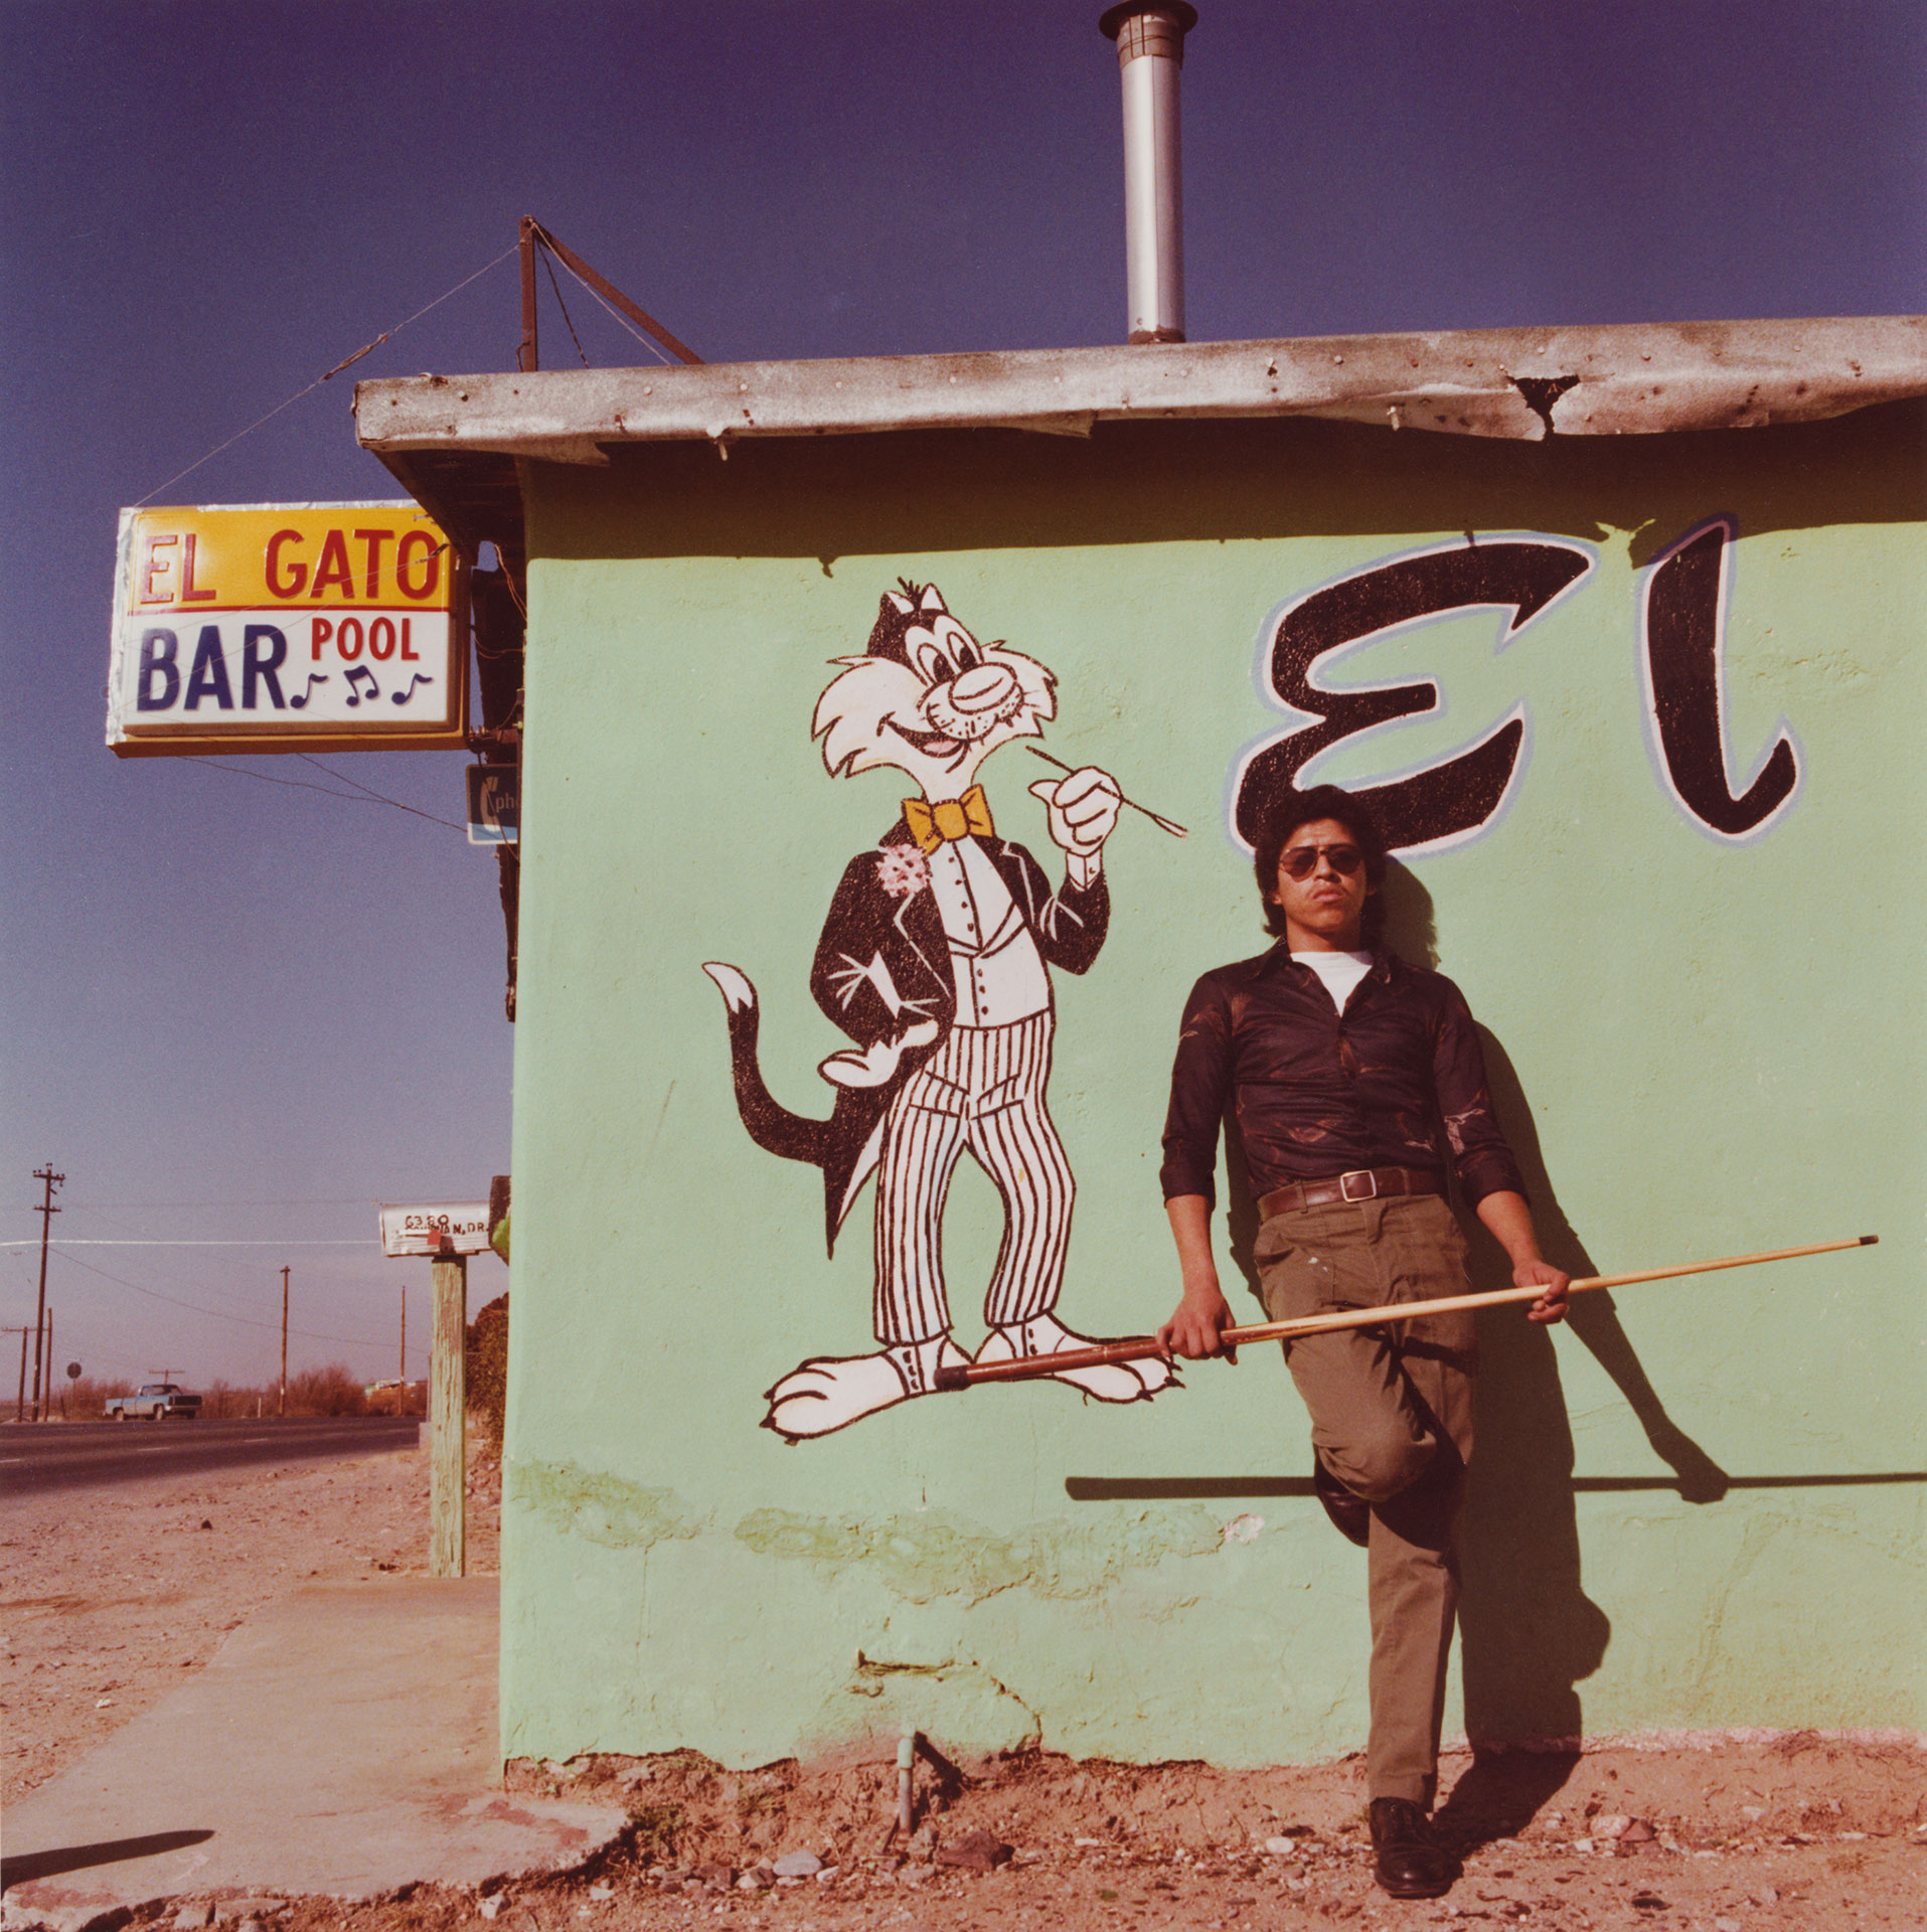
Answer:
[(1055, 1304), (1075, 1182), (1044, 1111), (1050, 1059), (1048, 1012), (1015, 1026), (953, 1026), (891, 1103), (876, 1215), (876, 1333), (885, 1347), (951, 1325), (943, 1202), (964, 1148), (1003, 1196), (984, 1320), (1028, 1321)]

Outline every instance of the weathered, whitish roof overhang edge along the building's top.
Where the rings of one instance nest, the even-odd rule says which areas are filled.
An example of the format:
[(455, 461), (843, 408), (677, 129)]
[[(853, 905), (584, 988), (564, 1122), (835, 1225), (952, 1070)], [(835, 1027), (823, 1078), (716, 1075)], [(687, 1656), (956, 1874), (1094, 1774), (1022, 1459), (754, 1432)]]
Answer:
[[(356, 431), (458, 541), (495, 537), (516, 458), (626, 442), (1312, 415), (1542, 440), (1811, 423), (1927, 394), (1927, 317), (1465, 328), (1289, 342), (423, 375), (361, 383)], [(497, 541), (501, 541), (497, 537)]]

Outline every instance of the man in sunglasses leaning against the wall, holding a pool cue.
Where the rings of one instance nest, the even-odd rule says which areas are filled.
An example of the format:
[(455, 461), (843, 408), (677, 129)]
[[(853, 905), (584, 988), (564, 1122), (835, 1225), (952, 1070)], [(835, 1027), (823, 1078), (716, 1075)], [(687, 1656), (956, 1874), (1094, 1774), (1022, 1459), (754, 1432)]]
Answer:
[[(1289, 794), (1256, 848), (1278, 943), (1193, 987), (1162, 1175), (1185, 1294), (1158, 1335), (1177, 1354), (1223, 1354), (1231, 1325), (1210, 1236), (1222, 1119), (1258, 1198), (1254, 1262), (1274, 1321), (1463, 1294), (1448, 1167), (1510, 1256), (1513, 1283), (1542, 1291), (1531, 1320), (1566, 1314), (1567, 1277), (1539, 1252), (1465, 999), (1376, 945), (1384, 869), (1384, 842), (1355, 798), (1332, 784)], [(1285, 1343), (1285, 1360), (1312, 1418), (1318, 1497), (1368, 1551), (1378, 1884), (1401, 1899), (1438, 1897), (1457, 1878), (1428, 1812), (1473, 1451), (1473, 1318), (1305, 1337)]]

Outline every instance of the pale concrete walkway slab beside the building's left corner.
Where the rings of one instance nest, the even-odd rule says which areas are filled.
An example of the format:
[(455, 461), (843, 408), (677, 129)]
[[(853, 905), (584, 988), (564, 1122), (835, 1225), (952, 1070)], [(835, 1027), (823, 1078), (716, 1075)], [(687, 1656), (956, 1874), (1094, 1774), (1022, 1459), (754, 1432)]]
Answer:
[(6, 1920), (172, 1893), (360, 1897), (574, 1862), (611, 1806), (499, 1785), (493, 1577), (309, 1584), (6, 1814)]

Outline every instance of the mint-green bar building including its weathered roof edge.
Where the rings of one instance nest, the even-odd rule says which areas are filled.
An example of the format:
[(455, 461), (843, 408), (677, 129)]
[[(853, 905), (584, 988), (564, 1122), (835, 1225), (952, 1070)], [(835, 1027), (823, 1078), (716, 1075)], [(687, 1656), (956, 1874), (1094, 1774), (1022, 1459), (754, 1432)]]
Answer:
[[(1884, 1238), (1484, 1321), (1465, 1729), (1927, 1723), (1923, 398), (1921, 319), (361, 384), (361, 442), (528, 616), (504, 1754), (1363, 1735), (1359, 1557), (1274, 1350), (810, 1434), (935, 1294), (864, 1188), (934, 1010), (897, 821), (999, 667), (995, 732), (1040, 736), (984, 761), (997, 842), (1057, 885), (1059, 765), (1189, 837), (1125, 810), (1102, 947), (1042, 949), (1063, 1161), (990, 1099), (914, 1175), (877, 1155), (955, 1347), (1013, 1294), (1169, 1312), (1177, 1014), (1266, 943), (1241, 808), (1382, 788), (1394, 943), (1488, 1030), (1556, 1260)], [(1022, 1001), (992, 939), (947, 999)], [(831, 1024), (864, 1003), (881, 1043)]]

